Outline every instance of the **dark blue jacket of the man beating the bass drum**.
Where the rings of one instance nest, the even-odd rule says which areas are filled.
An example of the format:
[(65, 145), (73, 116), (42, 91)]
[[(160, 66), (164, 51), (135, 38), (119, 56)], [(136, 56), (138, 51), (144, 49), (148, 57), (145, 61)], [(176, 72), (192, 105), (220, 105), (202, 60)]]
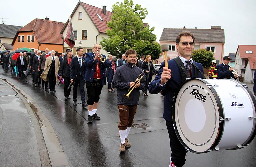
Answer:
[[(195, 65), (199, 68), (199, 70), (203, 73), (203, 66), (201, 63), (197, 63), (193, 61)], [(168, 61), (168, 68), (171, 69), (171, 79), (169, 79), (165, 85), (160, 85), (161, 75), (163, 72), (164, 61), (162, 62), (159, 72), (157, 73), (155, 79), (149, 84), (148, 91), (151, 94), (159, 93), (164, 87), (167, 88), (166, 95), (164, 96), (164, 116), (163, 118), (167, 121), (172, 122), (172, 105), (173, 105), (173, 95), (179, 88), (182, 83), (182, 76), (180, 73), (179, 66), (175, 62), (174, 59)], [(198, 74), (199, 78), (203, 79), (201, 73), (194, 68), (192, 65), (192, 78), (195, 76), (195, 73)]]

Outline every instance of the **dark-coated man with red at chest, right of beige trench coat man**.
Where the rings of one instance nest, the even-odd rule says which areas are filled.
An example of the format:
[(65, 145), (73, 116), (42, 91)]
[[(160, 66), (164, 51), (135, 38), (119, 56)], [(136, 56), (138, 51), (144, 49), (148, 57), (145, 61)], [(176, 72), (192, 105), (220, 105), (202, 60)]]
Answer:
[(60, 64), (60, 69), (58, 72), (58, 75), (60, 76), (60, 79), (64, 79), (64, 100), (70, 99), (70, 91), (68, 90), (68, 86), (70, 84), (70, 65), (71, 65), (71, 56), (72, 52), (70, 50), (67, 51), (67, 57), (63, 59), (63, 61)]

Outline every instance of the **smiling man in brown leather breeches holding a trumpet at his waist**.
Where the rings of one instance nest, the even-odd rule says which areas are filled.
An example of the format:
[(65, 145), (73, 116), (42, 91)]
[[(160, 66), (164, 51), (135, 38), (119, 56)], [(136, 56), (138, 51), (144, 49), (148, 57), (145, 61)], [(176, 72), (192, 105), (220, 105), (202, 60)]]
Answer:
[[(128, 134), (133, 125), (133, 118), (139, 104), (139, 90), (143, 90), (146, 84), (142, 69), (135, 65), (137, 52), (129, 49), (126, 51), (125, 56), (127, 63), (116, 69), (112, 81), (112, 87), (117, 88), (117, 104), (120, 118), (118, 128), (121, 139), (119, 151), (121, 152), (125, 151), (125, 147), (131, 146)], [(139, 79), (141, 79), (140, 82), (138, 82)], [(125, 97), (125, 94), (129, 94), (129, 97)]]

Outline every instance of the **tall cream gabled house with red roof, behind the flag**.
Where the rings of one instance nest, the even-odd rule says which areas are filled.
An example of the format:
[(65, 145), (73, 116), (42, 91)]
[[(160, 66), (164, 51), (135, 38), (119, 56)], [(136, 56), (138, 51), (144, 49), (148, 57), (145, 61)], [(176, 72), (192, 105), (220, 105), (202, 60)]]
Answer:
[[(73, 54), (76, 54), (76, 48), (83, 47), (84, 52), (92, 52), (93, 45), (100, 43), (102, 37), (108, 38), (106, 34), (107, 22), (111, 20), (112, 12), (106, 10), (106, 6), (98, 8), (79, 1), (73, 10), (71, 17), (72, 27), (75, 36), (75, 46), (73, 47)], [(65, 38), (67, 34), (67, 25), (61, 30), (60, 34)], [(64, 42), (65, 51), (69, 46)], [(104, 49), (101, 49), (102, 54), (107, 54)]]

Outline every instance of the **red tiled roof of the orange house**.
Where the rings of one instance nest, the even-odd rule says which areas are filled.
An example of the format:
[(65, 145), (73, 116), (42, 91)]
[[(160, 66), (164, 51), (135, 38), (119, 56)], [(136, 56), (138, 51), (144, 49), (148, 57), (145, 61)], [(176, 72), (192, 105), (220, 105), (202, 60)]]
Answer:
[[(60, 31), (65, 23), (43, 19), (34, 19), (18, 32), (33, 31), (38, 43), (63, 44)], [(18, 33), (17, 32), (17, 33)]]

